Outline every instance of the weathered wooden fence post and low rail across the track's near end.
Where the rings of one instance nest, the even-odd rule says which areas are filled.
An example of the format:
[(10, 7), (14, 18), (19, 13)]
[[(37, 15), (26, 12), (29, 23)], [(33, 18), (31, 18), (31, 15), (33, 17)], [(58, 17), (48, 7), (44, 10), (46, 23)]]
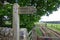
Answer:
[(35, 30), (32, 31), (32, 40), (60, 40), (60, 38), (57, 37), (44, 37), (39, 36)]

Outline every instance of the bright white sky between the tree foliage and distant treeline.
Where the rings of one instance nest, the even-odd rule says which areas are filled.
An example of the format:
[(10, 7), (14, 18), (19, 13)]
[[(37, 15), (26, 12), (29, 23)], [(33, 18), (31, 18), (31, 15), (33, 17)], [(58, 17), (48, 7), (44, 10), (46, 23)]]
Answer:
[(60, 8), (49, 16), (42, 16), (40, 21), (60, 21)]

